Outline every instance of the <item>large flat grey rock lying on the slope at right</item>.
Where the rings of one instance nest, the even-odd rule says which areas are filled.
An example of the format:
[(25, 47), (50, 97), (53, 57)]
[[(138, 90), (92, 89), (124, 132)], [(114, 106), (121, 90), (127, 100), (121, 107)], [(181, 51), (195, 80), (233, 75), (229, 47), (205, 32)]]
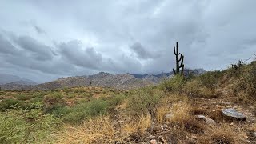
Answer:
[(234, 110), (232, 108), (222, 110), (222, 114), (226, 118), (231, 118), (231, 119), (240, 120), (240, 121), (245, 121), (246, 120), (246, 115), (245, 114), (242, 114), (242, 113), (240, 113), (237, 110)]

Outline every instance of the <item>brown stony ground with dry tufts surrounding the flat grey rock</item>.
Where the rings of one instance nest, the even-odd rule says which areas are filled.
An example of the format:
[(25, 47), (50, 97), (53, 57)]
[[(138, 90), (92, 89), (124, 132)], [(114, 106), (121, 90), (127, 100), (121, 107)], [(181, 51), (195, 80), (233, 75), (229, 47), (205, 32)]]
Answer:
[[(171, 122), (174, 114), (166, 114), (162, 124), (151, 122), (146, 134), (133, 135), (135, 143), (256, 143), (254, 106), (234, 102), (226, 94), (218, 98), (190, 98), (193, 103), (191, 122)], [(182, 102), (180, 102), (182, 103)], [(200, 122), (202, 127), (193, 123)], [(186, 122), (185, 122), (186, 123)], [(212, 133), (212, 134), (210, 134)], [(225, 134), (226, 133), (226, 134)]]

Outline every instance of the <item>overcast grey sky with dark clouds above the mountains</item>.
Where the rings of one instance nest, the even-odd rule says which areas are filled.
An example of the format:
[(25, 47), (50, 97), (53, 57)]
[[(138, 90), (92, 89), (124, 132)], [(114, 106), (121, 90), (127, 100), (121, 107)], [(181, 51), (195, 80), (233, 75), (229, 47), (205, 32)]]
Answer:
[(256, 52), (255, 0), (0, 0), (0, 73), (71, 75), (224, 69)]

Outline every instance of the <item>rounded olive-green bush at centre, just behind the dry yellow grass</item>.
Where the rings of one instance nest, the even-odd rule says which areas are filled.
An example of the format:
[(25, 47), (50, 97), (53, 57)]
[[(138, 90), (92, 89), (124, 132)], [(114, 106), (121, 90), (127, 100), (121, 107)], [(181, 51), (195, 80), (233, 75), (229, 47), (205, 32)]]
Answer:
[(129, 97), (127, 112), (137, 117), (142, 114), (150, 114), (154, 117), (161, 97), (162, 94), (152, 89), (138, 90)]

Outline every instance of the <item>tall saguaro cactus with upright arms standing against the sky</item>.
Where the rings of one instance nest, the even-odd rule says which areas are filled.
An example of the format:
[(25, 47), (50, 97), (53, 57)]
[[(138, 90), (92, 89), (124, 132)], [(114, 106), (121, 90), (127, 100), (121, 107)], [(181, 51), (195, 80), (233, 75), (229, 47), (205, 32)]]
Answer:
[[(183, 75), (183, 72), (184, 72), (184, 64), (183, 64), (184, 55), (181, 54), (181, 53), (178, 53), (178, 42), (176, 42), (176, 48), (174, 46), (174, 54), (176, 56), (176, 70), (173, 69), (174, 74), (175, 75), (176, 74), (182, 74)], [(179, 57), (179, 55), (181, 55), (181, 56)], [(181, 62), (181, 63), (179, 63), (179, 62)], [(180, 68), (181, 68), (181, 70), (180, 70)]]

